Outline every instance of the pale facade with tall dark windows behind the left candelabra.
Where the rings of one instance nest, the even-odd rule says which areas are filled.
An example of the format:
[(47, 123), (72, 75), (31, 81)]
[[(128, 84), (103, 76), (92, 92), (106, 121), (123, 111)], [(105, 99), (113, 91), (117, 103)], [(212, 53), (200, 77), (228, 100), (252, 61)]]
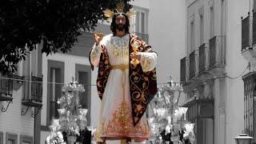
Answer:
[(62, 86), (72, 81), (77, 81), (85, 88), (81, 95), (82, 108), (88, 110), (88, 126), (91, 125), (91, 89), (92, 74), (90, 70), (89, 52), (93, 46), (93, 34), (82, 32), (72, 51), (67, 54), (56, 53), (46, 56), (42, 54), (42, 113), (41, 113), (41, 144), (45, 143), (49, 135), (50, 122), (58, 116), (58, 98), (62, 97)]

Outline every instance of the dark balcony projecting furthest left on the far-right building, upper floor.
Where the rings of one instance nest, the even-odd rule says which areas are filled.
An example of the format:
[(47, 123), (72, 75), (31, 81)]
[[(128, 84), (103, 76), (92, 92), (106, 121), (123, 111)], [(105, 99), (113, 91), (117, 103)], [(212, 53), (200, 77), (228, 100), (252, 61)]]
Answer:
[(249, 16), (242, 19), (242, 50), (249, 47)]

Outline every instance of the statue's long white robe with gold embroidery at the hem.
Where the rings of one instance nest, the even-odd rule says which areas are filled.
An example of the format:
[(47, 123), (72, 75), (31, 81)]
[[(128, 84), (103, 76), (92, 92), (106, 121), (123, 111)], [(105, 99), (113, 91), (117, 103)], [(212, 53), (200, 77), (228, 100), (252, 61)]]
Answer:
[[(110, 66), (129, 66), (129, 34), (122, 38), (106, 35), (98, 46), (93, 47), (90, 58), (94, 66), (98, 66), (101, 54), (101, 46), (106, 46)], [(157, 54), (141, 52), (142, 70), (153, 70), (156, 66)], [(122, 84), (125, 84), (124, 86)], [(110, 70), (106, 88), (102, 98), (100, 123), (96, 134), (106, 139), (132, 138), (143, 141), (150, 137), (150, 126), (144, 114), (136, 126), (133, 125), (129, 69)]]

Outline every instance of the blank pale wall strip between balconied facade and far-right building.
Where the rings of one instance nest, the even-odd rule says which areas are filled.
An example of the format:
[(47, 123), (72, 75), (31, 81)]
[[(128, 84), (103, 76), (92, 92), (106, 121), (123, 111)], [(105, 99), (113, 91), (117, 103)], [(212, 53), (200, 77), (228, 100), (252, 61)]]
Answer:
[[(226, 73), (237, 77), (246, 69), (247, 61), (242, 58), (241, 16), (249, 11), (249, 0), (226, 1)], [(228, 79), (226, 86), (226, 143), (235, 144), (234, 137), (244, 129), (244, 84), (242, 78)]]

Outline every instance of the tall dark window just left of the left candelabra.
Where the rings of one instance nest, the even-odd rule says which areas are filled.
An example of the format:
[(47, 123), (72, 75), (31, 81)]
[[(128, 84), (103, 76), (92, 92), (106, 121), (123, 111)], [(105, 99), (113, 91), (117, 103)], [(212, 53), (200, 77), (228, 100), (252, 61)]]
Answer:
[(58, 118), (58, 98), (62, 96), (64, 83), (64, 62), (48, 60), (47, 74), (47, 125), (53, 118)]

